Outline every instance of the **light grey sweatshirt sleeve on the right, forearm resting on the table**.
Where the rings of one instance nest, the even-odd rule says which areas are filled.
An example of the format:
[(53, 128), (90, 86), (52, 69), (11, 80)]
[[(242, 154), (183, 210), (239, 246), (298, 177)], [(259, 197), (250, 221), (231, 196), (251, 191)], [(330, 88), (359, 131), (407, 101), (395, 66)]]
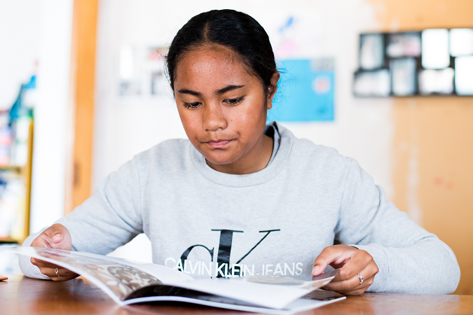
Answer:
[(383, 188), (351, 160), (336, 239), (367, 251), (378, 265), (372, 292), (452, 293), (460, 281), (455, 254), (385, 200)]

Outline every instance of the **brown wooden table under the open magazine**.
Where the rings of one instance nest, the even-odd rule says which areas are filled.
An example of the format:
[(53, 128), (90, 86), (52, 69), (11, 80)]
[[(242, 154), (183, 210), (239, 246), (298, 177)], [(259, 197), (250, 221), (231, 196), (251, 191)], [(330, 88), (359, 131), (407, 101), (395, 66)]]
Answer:
[[(8, 276), (0, 281), (0, 314), (245, 314), (192, 304), (147, 303), (119, 307), (90, 281), (53, 282)], [(248, 313), (252, 314), (252, 313)], [(473, 295), (365, 293), (301, 314), (473, 314)]]

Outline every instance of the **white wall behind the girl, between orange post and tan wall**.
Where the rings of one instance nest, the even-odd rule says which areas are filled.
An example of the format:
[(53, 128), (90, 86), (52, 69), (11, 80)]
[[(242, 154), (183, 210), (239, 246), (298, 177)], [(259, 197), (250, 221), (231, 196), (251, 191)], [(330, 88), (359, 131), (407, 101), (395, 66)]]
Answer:
[[(93, 183), (98, 183), (133, 155), (174, 137), (186, 137), (172, 94), (160, 99), (118, 97), (118, 51), (121, 45), (165, 45), (193, 15), (216, 8), (249, 13), (268, 32), (277, 52), (278, 29), (294, 16), (298, 50), (290, 57), (334, 57), (336, 62), (335, 121), (287, 123), (296, 137), (337, 148), (358, 160), (392, 195), (391, 102), (352, 97), (352, 74), (357, 69), (358, 36), (378, 28), (374, 8), (362, 0), (313, 1), (152, 1), (102, 0), (97, 41), (97, 92)], [(287, 57), (287, 56), (280, 56)], [(275, 105), (277, 106), (277, 104)], [(148, 248), (142, 238), (136, 248)], [(119, 249), (116, 255), (127, 255)], [(144, 252), (144, 251), (142, 251)], [(134, 256), (149, 260), (151, 255)]]

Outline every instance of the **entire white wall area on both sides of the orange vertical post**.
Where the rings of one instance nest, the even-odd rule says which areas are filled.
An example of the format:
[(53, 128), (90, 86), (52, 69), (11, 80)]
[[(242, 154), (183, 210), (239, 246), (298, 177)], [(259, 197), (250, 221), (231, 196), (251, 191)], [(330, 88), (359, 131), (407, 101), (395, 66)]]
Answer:
[[(165, 139), (186, 137), (171, 93), (159, 99), (118, 97), (121, 45), (169, 44), (189, 18), (214, 8), (252, 15), (268, 31), (275, 50), (281, 39), (277, 30), (294, 15), (296, 29), (303, 31), (292, 34), (300, 44), (292, 57), (335, 57), (335, 121), (285, 125), (297, 137), (357, 159), (392, 195), (390, 100), (355, 99), (351, 94), (358, 34), (378, 27), (373, 8), (362, 0), (100, 1), (92, 187), (136, 153)], [(39, 60), (32, 231), (63, 213), (71, 22), (72, 0), (0, 1), (0, 109), (11, 106)], [(142, 250), (149, 248), (146, 238), (135, 242), (137, 246), (116, 254), (134, 251), (135, 259), (150, 260), (151, 253)]]

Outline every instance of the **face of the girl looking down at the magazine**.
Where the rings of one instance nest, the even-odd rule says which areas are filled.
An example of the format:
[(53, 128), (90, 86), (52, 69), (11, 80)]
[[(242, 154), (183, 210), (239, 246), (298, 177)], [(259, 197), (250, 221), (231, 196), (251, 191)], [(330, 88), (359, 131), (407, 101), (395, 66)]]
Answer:
[(266, 93), (235, 52), (221, 45), (201, 46), (181, 57), (174, 76), (177, 109), (188, 139), (210, 167), (226, 172), (222, 167), (227, 166), (233, 169), (229, 173), (245, 174), (238, 169), (266, 158), (268, 137), (263, 131), (278, 78), (275, 73)]

